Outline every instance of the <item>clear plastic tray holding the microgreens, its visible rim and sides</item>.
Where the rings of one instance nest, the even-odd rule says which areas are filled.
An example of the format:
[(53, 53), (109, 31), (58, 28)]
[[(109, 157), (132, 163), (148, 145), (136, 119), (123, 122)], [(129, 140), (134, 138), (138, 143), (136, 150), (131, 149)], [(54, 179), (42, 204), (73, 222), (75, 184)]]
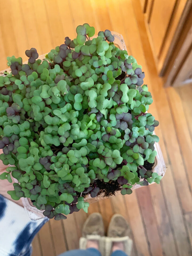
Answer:
[[(127, 50), (126, 45), (125, 45), (125, 41), (123, 39), (123, 36), (119, 33), (113, 32), (113, 31), (111, 31), (111, 33), (113, 34), (113, 36), (115, 38), (114, 44), (119, 49)], [(46, 54), (43, 54), (43, 55), (39, 56), (39, 59), (41, 59), (41, 60), (44, 59), (45, 55)], [(23, 63), (27, 63), (27, 61), (23, 62)], [(3, 75), (4, 71), (10, 72), (11, 70), (10, 70), (10, 68), (2, 70), (0, 72), (0, 75)], [(166, 171), (166, 166), (165, 166), (165, 162), (164, 162), (164, 159), (163, 159), (163, 156), (162, 156), (162, 152), (161, 152), (159, 143), (155, 142), (154, 146), (155, 146), (155, 150), (157, 151), (157, 156), (155, 157), (155, 164), (154, 164), (154, 167), (153, 167), (153, 171), (158, 173), (158, 175), (164, 176), (165, 171)], [(17, 182), (17, 180), (15, 180), (15, 182)], [(151, 184), (153, 184), (153, 183), (151, 183)], [(138, 189), (139, 187), (141, 187), (141, 185), (135, 184), (132, 189)], [(121, 192), (117, 191), (115, 193), (115, 195), (117, 195), (119, 193), (121, 193)], [(97, 201), (105, 199), (105, 198), (106, 197), (105, 197), (104, 194), (100, 194), (96, 198), (92, 198), (90, 195), (87, 195), (87, 197), (85, 198), (85, 201), (89, 202), (89, 203), (94, 203), (94, 202), (97, 202)], [(43, 215), (43, 210), (38, 210), (35, 206), (33, 206), (33, 204), (29, 200), (30, 199), (28, 199), (28, 198), (22, 198), (23, 206), (24, 206), (29, 218), (32, 221), (36, 221), (36, 220), (39, 220), (39, 219), (42, 219), (42, 218), (46, 218)]]

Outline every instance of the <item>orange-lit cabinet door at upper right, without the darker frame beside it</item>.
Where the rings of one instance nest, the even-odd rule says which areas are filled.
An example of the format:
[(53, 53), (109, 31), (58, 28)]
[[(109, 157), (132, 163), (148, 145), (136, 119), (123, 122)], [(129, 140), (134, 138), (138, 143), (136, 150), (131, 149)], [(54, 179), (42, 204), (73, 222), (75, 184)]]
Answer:
[(142, 4), (157, 70), (164, 75), (179, 33), (190, 12), (191, 0), (145, 0)]

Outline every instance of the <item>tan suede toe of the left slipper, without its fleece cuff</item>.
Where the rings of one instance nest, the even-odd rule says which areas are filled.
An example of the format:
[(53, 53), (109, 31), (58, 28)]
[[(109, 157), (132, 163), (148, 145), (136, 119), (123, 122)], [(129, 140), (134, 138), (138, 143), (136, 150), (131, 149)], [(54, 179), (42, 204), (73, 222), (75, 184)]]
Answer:
[(87, 235), (99, 235), (104, 236), (105, 230), (103, 225), (103, 218), (100, 213), (92, 213), (86, 219), (82, 228), (82, 236), (86, 237)]

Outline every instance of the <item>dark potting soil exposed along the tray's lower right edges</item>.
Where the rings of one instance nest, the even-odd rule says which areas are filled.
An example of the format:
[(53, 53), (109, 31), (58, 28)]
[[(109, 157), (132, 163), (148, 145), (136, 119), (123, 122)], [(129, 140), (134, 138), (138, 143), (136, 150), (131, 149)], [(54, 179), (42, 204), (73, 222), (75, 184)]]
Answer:
[[(152, 168), (154, 166), (154, 163), (149, 163), (146, 161), (144, 161), (144, 165), (143, 167), (145, 167), (146, 170), (151, 171)], [(139, 175), (139, 169), (137, 170), (137, 173)], [(121, 186), (117, 180), (115, 181), (109, 181), (109, 182), (104, 182), (103, 180), (97, 179), (94, 182), (94, 185), (96, 187), (99, 187), (100, 191), (97, 195), (100, 195), (102, 193), (104, 193), (104, 196), (109, 197), (110, 195), (114, 195), (116, 191), (121, 190)], [(87, 194), (82, 194), (83, 197), (85, 197)]]

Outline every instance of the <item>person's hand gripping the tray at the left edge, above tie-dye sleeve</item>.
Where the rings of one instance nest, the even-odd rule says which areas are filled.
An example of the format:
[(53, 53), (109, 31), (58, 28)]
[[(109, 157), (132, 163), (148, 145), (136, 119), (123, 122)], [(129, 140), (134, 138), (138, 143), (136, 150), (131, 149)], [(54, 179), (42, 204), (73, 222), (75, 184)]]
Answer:
[[(3, 153), (3, 150), (0, 149), (0, 154), (2, 154), (2, 153)], [(8, 166), (4, 165), (3, 162), (0, 160), (0, 174), (4, 173), (6, 171), (7, 167)], [(13, 180), (12, 176), (11, 176), (11, 178)], [(7, 179), (4, 179), (4, 180), (0, 179), (0, 194), (3, 195), (4, 197), (6, 197), (7, 199), (17, 203), (18, 205), (23, 206), (21, 199), (19, 199), (18, 201), (15, 201), (11, 198), (11, 196), (9, 194), (7, 194), (7, 191), (9, 191), (9, 190), (14, 190), (13, 182), (9, 183), (9, 181)]]

